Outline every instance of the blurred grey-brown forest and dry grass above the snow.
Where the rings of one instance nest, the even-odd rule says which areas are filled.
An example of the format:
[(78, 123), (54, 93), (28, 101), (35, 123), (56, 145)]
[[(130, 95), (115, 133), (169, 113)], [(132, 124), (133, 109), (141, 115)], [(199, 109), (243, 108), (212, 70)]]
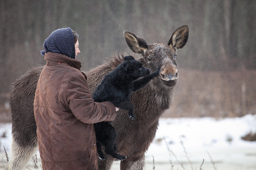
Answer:
[(0, 122), (10, 121), (11, 83), (45, 65), (44, 40), (59, 28), (79, 36), (83, 71), (114, 52), (128, 52), (123, 31), (147, 44), (167, 44), (190, 27), (178, 50), (180, 77), (164, 117), (235, 117), (256, 113), (256, 1), (241, 0), (1, 0)]

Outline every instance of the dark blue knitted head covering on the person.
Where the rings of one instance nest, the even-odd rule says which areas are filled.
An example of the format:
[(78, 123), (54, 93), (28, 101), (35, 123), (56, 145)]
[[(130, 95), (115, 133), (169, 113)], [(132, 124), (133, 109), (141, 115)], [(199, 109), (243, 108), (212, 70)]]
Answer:
[(44, 42), (45, 51), (41, 51), (41, 55), (45, 53), (59, 53), (66, 55), (70, 58), (76, 58), (76, 50), (73, 32), (71, 28), (57, 29)]

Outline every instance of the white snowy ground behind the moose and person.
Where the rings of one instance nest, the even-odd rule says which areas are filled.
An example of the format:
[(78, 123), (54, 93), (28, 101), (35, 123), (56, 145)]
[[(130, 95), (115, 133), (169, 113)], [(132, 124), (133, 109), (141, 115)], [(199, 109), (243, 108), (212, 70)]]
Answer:
[[(249, 132), (256, 132), (256, 115), (218, 120), (162, 118), (155, 141), (146, 153), (145, 169), (153, 169), (154, 156), (156, 170), (198, 170), (203, 160), (201, 169), (205, 170), (255, 170), (256, 142), (241, 139)], [(3, 146), (10, 154), (11, 124), (0, 124), (1, 169), (6, 164)], [(115, 162), (111, 169), (119, 169), (119, 163)], [(32, 164), (29, 169), (33, 169)]]

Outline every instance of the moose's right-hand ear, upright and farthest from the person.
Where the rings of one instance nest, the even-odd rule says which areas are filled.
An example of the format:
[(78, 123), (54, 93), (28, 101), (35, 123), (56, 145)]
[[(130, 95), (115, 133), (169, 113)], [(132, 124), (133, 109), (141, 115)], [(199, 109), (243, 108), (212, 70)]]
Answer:
[(184, 25), (176, 29), (172, 37), (168, 41), (169, 47), (176, 47), (177, 49), (180, 49), (186, 45), (188, 41), (188, 35), (189, 35), (189, 27), (188, 25)]

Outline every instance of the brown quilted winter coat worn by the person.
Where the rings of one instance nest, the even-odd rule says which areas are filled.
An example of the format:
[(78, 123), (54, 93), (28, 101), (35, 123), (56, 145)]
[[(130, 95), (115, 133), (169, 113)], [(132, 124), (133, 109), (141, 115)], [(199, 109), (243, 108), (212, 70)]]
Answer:
[(45, 53), (34, 114), (43, 169), (98, 169), (93, 123), (114, 120), (111, 102), (91, 98), (81, 62)]

